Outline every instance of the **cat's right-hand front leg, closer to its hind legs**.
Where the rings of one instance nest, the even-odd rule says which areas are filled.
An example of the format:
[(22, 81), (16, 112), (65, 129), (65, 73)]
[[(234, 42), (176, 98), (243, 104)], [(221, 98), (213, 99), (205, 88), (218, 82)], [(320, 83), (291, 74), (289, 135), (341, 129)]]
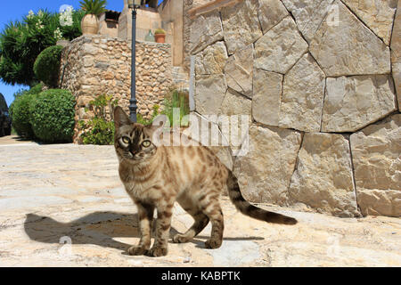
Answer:
[(168, 254), (168, 237), (171, 225), (173, 205), (158, 208), (158, 219), (156, 221), (156, 239), (148, 256), (166, 256)]

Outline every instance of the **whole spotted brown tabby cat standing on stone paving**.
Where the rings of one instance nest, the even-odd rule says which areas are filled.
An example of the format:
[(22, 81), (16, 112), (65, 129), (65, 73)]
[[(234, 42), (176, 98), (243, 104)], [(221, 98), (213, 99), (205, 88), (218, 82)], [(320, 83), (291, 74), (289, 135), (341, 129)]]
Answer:
[[(176, 234), (173, 242), (188, 242), (209, 221), (206, 248), (219, 248), (223, 240), (223, 213), (219, 195), (225, 189), (242, 214), (277, 224), (297, 224), (288, 216), (268, 212), (243, 199), (237, 179), (215, 154), (204, 146), (165, 146), (152, 142), (156, 126), (133, 123), (120, 107), (114, 110), (114, 146), (119, 177), (138, 208), (141, 239), (128, 249), (133, 256), (166, 256), (173, 205), (177, 201), (194, 219), (192, 227)], [(159, 145), (159, 146), (157, 146)], [(151, 221), (157, 210), (156, 237), (151, 248)]]

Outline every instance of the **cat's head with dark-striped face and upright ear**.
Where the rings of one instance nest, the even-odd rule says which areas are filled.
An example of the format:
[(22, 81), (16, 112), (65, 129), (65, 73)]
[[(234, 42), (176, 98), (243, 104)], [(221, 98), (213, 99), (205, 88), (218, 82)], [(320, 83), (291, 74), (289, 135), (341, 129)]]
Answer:
[(120, 159), (141, 163), (151, 159), (157, 146), (152, 142), (152, 126), (133, 123), (121, 107), (114, 109), (114, 147)]

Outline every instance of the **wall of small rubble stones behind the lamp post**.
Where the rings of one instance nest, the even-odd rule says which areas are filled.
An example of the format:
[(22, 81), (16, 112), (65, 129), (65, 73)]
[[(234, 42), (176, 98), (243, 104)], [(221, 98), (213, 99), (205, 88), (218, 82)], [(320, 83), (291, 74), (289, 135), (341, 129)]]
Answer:
[[(171, 46), (136, 42), (137, 112), (149, 117), (172, 85)], [(113, 95), (128, 112), (131, 96), (131, 41), (108, 36), (82, 36), (61, 55), (61, 88), (77, 98), (76, 121), (93, 116), (88, 103), (99, 94)], [(74, 142), (79, 142), (78, 129)]]

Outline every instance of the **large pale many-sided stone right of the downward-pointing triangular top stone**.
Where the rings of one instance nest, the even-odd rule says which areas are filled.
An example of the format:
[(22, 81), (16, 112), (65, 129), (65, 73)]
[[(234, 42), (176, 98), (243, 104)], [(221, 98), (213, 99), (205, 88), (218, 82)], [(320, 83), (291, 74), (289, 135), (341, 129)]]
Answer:
[(310, 53), (328, 77), (390, 72), (389, 47), (336, 0), (338, 19), (327, 17), (310, 43)]

